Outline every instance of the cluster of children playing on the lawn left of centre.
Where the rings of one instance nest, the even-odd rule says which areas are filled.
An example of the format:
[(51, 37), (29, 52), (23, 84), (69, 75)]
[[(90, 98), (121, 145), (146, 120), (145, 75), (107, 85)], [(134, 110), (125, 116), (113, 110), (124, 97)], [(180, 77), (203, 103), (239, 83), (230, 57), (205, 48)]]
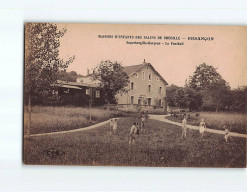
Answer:
[[(145, 122), (146, 117), (145, 115), (141, 116), (141, 126), (139, 126), (138, 122), (134, 122), (133, 125), (130, 128), (129, 133), (129, 146), (135, 144), (136, 142), (136, 136), (141, 133), (145, 133)], [(117, 119), (111, 119), (110, 121), (110, 136), (113, 134), (116, 134), (117, 132)]]

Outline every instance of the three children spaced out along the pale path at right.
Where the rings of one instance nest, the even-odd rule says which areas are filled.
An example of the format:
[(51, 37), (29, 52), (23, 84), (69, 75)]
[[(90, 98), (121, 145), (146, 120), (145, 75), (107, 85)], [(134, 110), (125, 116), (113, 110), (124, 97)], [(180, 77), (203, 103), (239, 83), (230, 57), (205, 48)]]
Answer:
[[(226, 125), (224, 125), (224, 129), (225, 129), (224, 138), (225, 138), (225, 141), (228, 142), (228, 139), (230, 137), (229, 135), (230, 131)], [(206, 123), (204, 122), (204, 119), (202, 118), (199, 124), (199, 133), (200, 133), (201, 138), (203, 137), (205, 131), (206, 131)], [(182, 121), (182, 138), (186, 138), (186, 134), (187, 134), (187, 117), (185, 115)]]

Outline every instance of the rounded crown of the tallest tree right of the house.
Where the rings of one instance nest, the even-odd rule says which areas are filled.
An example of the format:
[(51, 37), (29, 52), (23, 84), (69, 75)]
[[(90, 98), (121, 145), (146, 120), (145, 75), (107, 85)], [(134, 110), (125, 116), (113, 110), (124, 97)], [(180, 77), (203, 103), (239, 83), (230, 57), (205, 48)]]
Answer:
[(217, 69), (205, 63), (196, 67), (193, 76), (189, 79), (189, 87), (196, 90), (205, 89), (210, 83), (217, 82), (222, 79)]

